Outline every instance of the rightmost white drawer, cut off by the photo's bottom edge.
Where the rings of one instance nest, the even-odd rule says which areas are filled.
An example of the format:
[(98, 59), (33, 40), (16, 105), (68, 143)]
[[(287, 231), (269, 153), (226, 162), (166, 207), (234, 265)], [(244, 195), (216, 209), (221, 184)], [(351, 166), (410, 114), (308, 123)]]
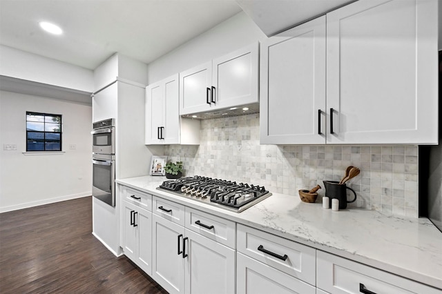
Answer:
[[(439, 293), (441, 290), (323, 251), (317, 252), (317, 287), (328, 293)], [(367, 292), (361, 291), (361, 286)]]

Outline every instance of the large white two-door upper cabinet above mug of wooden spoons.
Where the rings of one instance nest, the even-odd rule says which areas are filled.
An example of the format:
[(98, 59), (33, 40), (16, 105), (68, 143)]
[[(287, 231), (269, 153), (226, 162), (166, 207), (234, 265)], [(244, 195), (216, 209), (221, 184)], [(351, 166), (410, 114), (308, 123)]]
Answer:
[(437, 64), (437, 0), (360, 0), (282, 32), (262, 43), (261, 143), (437, 144)]

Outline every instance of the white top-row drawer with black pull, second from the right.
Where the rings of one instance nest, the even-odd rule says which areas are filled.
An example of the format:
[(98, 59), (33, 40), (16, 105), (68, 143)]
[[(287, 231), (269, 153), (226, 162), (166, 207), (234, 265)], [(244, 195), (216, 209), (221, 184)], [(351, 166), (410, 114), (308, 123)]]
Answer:
[[(316, 283), (316, 249), (238, 224), (238, 251), (311, 285)], [(285, 259), (285, 260), (284, 260)]]

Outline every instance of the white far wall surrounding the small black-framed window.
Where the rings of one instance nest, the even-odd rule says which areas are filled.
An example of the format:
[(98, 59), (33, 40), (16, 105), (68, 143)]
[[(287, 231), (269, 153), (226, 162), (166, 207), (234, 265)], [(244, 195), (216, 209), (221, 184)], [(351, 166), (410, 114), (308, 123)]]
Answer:
[[(23, 155), (26, 111), (62, 115), (66, 153)], [(84, 104), (0, 91), (0, 212), (91, 195), (91, 112)], [(17, 144), (17, 150), (3, 150), (3, 144)]]

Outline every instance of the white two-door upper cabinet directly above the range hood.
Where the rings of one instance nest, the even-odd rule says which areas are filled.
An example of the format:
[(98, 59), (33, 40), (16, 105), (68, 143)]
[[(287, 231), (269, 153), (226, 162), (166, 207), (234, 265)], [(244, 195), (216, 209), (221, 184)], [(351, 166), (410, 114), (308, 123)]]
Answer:
[(258, 43), (180, 73), (180, 115), (258, 103)]

